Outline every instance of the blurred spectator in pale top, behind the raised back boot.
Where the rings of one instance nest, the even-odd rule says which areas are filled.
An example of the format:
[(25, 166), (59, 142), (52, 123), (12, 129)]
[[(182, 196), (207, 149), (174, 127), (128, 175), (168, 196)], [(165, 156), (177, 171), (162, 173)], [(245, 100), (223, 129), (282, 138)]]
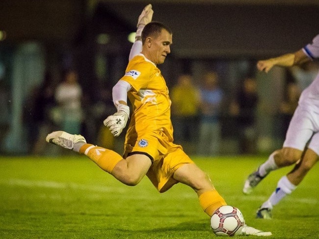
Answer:
[(82, 89), (78, 83), (78, 73), (74, 70), (65, 72), (63, 81), (55, 90), (55, 99), (61, 113), (61, 130), (79, 134), (83, 118), (81, 100)]

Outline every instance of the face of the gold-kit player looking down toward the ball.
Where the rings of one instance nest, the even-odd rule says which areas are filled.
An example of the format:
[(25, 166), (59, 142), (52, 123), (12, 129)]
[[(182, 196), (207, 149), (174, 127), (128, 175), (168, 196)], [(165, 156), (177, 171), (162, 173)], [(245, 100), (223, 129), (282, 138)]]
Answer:
[(155, 64), (164, 62), (167, 54), (171, 52), (172, 35), (165, 29), (162, 29), (157, 38), (148, 39), (147, 58)]

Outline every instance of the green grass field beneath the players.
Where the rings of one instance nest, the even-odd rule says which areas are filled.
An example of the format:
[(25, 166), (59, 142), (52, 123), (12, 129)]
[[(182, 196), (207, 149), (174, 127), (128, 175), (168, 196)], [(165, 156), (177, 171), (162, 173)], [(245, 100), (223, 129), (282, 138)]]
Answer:
[[(277, 205), (274, 219), (262, 220), (255, 219), (256, 209), (290, 168), (272, 172), (247, 196), (241, 193), (243, 181), (265, 158), (193, 159), (211, 176), (227, 203), (240, 209), (248, 225), (271, 231), (276, 239), (319, 237), (318, 165)], [(191, 188), (178, 184), (160, 194), (146, 177), (138, 186), (125, 186), (89, 159), (70, 156), (0, 158), (0, 238), (217, 237)]]

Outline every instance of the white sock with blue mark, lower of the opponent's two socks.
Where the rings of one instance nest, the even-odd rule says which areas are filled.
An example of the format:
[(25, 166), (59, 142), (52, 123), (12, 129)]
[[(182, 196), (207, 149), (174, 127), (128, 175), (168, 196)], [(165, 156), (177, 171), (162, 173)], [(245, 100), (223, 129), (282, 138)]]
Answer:
[(276, 190), (271, 194), (268, 201), (272, 206), (278, 204), (286, 195), (292, 193), (297, 186), (293, 185), (287, 178), (283, 176), (277, 184)]

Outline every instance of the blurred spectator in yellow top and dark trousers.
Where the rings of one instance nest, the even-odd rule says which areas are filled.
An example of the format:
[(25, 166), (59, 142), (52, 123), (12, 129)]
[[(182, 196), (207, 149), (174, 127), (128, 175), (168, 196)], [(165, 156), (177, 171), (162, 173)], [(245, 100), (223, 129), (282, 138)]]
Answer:
[(199, 91), (190, 75), (180, 75), (170, 91), (174, 142), (190, 147), (197, 139)]

